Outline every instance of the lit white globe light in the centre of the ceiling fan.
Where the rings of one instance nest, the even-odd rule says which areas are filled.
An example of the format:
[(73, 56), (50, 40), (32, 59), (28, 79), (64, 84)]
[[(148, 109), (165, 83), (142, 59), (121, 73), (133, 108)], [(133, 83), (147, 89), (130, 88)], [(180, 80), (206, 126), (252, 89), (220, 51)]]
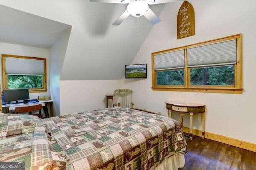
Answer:
[(140, 17), (148, 10), (148, 3), (142, 0), (133, 1), (127, 6), (127, 11), (134, 17)]

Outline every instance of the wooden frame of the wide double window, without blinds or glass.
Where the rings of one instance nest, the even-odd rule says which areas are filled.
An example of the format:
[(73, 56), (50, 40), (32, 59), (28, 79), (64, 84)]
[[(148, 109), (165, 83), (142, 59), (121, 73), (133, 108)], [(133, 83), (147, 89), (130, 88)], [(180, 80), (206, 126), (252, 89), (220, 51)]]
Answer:
[[(221, 85), (190, 85), (190, 68), (188, 67), (188, 55), (187, 49), (191, 47), (198, 47), (201, 45), (207, 45), (212, 43), (218, 43), (222, 41), (228, 41), (236, 39), (236, 51), (237, 62), (234, 64), (234, 85), (221, 86)], [(157, 85), (156, 84), (156, 72), (154, 70), (154, 55), (167, 53), (170, 51), (176, 51), (179, 49), (185, 50), (185, 68), (184, 68), (184, 86), (183, 85)], [(242, 34), (231, 35), (219, 39), (213, 39), (210, 41), (204, 41), (201, 43), (195, 43), (192, 45), (186, 45), (164, 51), (158, 51), (151, 54), (152, 57), (152, 89), (160, 91), (181, 91), (181, 92), (210, 92), (210, 93), (234, 93), (242, 94)], [(199, 67), (196, 67), (199, 68)]]

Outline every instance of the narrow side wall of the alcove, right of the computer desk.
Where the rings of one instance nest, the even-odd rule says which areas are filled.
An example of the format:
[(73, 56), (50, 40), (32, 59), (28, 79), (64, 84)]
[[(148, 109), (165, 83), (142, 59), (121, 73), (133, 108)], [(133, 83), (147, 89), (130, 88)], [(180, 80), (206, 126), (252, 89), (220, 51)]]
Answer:
[(71, 27), (62, 31), (62, 37), (50, 48), (50, 90), (53, 100), (52, 116), (60, 115), (60, 74), (66, 55)]

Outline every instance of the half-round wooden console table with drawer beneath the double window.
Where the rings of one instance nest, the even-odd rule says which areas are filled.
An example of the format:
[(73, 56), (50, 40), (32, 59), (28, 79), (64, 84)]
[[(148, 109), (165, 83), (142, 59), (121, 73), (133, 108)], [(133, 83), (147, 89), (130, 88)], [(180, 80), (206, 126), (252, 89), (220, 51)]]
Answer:
[(190, 139), (193, 138), (193, 114), (201, 113), (202, 114), (202, 138), (204, 139), (204, 113), (205, 113), (205, 105), (204, 104), (195, 104), (195, 103), (185, 103), (185, 102), (174, 102), (167, 101), (166, 109), (168, 109), (169, 117), (172, 117), (172, 111), (178, 111), (181, 113), (189, 113), (190, 114)]

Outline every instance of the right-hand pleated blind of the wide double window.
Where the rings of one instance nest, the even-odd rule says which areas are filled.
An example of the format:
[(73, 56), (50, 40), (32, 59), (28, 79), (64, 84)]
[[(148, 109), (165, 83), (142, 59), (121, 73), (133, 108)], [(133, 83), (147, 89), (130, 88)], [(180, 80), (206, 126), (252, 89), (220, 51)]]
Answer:
[(188, 66), (227, 65), (236, 63), (236, 39), (187, 49)]

